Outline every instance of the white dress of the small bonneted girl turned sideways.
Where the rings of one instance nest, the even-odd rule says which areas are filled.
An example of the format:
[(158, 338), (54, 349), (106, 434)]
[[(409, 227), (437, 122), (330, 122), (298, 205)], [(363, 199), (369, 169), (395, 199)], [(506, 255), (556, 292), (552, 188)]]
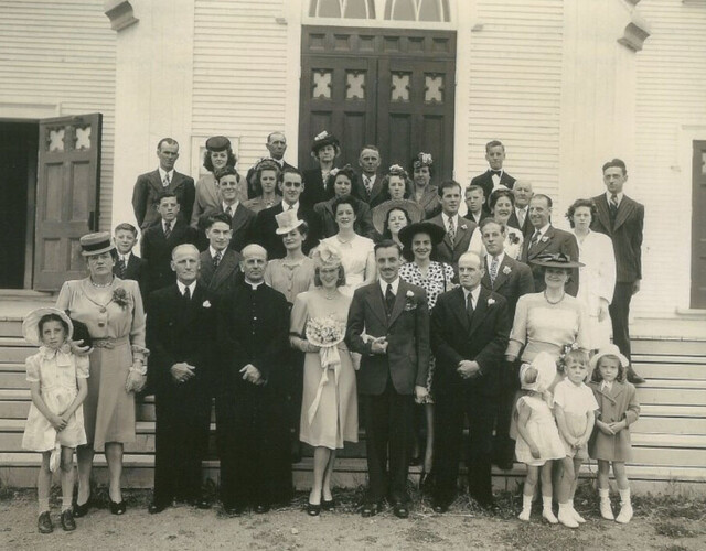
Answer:
[(556, 428), (554, 415), (547, 402), (536, 396), (523, 396), (517, 401), (517, 408), (521, 408), (521, 404), (532, 410), (527, 420), (527, 432), (539, 449), (539, 458), (532, 456), (530, 444), (517, 432), (515, 441), (517, 461), (525, 465), (539, 467), (547, 461), (564, 458), (566, 456), (564, 444), (561, 444), (559, 430)]

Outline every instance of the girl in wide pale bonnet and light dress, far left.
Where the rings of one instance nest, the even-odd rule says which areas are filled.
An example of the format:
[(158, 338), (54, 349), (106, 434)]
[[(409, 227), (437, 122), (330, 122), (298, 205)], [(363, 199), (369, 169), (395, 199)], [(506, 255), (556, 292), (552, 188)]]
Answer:
[(42, 307), (31, 312), (22, 324), (29, 343), (39, 345), (36, 354), (25, 360), (32, 406), (24, 428), (22, 447), (42, 453), (36, 480), (39, 498), (38, 528), (53, 531), (49, 509), (52, 473), (61, 465), (62, 515), (66, 531), (75, 530), (72, 514), (74, 493), (74, 449), (86, 443), (82, 403), (86, 398), (88, 356), (75, 356), (68, 341), (73, 325), (61, 310)]

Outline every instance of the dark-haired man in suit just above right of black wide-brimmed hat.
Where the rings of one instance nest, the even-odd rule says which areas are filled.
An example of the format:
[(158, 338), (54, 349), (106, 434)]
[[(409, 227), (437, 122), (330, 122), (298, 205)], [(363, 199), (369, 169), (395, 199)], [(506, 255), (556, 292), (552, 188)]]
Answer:
[(439, 185), (441, 213), (429, 222), (441, 226), (446, 230), (443, 240), (435, 247), (434, 260), (446, 262), (453, 267), (458, 277), (459, 258), (471, 245), (471, 236), (475, 224), (459, 216), (461, 204), (461, 184), (453, 180), (446, 180)]

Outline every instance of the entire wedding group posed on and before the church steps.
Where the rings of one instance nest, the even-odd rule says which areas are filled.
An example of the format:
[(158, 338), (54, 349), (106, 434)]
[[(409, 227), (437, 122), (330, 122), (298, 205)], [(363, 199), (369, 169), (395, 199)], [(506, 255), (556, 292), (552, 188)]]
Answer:
[(341, 148), (328, 132), (314, 138), (311, 171), (284, 161), (282, 133), (267, 149), (242, 176), (229, 141), (210, 138), (210, 174), (194, 185), (174, 171), (179, 144), (161, 140), (158, 170), (135, 185), (140, 229), (122, 223), (113, 238), (84, 236), (88, 277), (65, 282), (55, 309), (26, 317), (25, 337), (40, 346), (26, 364), (23, 440), (43, 454), (40, 531), (52, 530), (49, 486), (60, 466), (62, 527), (88, 512), (95, 452), (107, 458), (110, 510), (125, 512), (137, 393), (154, 395), (151, 514), (174, 500), (211, 506), (201, 462), (214, 400), (226, 512), (289, 501), (299, 442), (313, 449), (307, 514), (334, 509), (335, 455), (357, 441), (360, 402), (364, 517), (385, 499), (408, 517), (415, 463), (435, 510), (447, 511), (467, 423), (468, 488), (489, 511), (491, 465), (510, 469), (516, 457), (527, 465), (520, 518), (528, 520), (541, 479), (543, 517), (577, 527), (571, 499), (588, 449), (601, 514), (612, 518), (612, 463), (617, 520), (629, 521), (624, 462), (639, 406), (628, 380), (641, 379), (628, 314), (643, 207), (623, 194), (624, 163), (603, 165), (607, 192), (576, 201), (564, 231), (552, 225), (552, 198), (503, 170), (498, 141), (466, 191), (452, 180), (434, 185), (424, 152), (410, 176), (397, 164), (379, 174), (374, 145), (362, 148), (360, 172), (335, 168)]

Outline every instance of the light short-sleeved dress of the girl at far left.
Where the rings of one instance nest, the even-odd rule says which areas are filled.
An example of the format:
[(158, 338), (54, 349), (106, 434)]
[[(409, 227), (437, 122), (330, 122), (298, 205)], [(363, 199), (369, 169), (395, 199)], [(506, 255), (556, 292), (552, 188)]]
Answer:
[[(68, 349), (51, 350), (44, 346), (26, 358), (26, 380), (40, 383), (40, 393), (52, 413), (66, 411), (76, 395), (76, 378), (88, 378), (88, 358), (75, 356)], [(86, 443), (83, 407), (78, 407), (63, 431), (57, 432), (49, 419), (32, 403), (24, 425), (22, 447), (33, 452), (49, 452), (58, 442), (66, 447)]]

